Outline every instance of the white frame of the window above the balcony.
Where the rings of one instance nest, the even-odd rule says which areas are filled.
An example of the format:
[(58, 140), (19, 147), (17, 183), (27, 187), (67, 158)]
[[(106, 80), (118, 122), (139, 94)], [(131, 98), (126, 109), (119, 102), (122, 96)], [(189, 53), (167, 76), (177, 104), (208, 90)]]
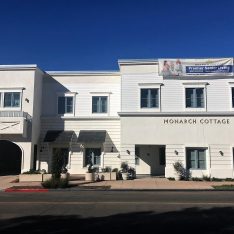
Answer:
[[(0, 110), (2, 111), (22, 111), (24, 88), (0, 88)], [(18, 107), (4, 107), (4, 94), (5, 93), (20, 93), (20, 105)]]

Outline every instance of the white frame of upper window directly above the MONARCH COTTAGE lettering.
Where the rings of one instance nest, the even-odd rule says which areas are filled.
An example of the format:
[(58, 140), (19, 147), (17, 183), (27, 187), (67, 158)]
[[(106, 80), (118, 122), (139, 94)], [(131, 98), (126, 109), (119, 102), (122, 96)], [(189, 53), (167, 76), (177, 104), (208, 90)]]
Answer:
[[(184, 111), (207, 111), (207, 82), (188, 82), (188, 83), (183, 83), (184, 86), (184, 92), (183, 92), (183, 98), (184, 98)], [(199, 108), (193, 108), (193, 107), (186, 107), (186, 89), (187, 88), (203, 88), (204, 89), (204, 107), (199, 107)]]

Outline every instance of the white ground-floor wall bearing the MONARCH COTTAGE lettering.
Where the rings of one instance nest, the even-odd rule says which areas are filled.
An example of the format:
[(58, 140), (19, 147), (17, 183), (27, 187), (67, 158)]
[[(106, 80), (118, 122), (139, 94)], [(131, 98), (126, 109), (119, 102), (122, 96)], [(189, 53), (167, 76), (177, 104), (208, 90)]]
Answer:
[[(169, 119), (171, 123), (167, 122)], [(185, 124), (185, 120), (189, 119), (194, 123), (191, 121), (191, 124)], [(223, 120), (223, 123), (219, 120)], [(166, 176), (170, 177), (173, 176), (172, 164), (175, 161), (180, 160), (186, 165), (186, 148), (205, 147), (206, 170), (194, 170), (193, 176), (211, 174), (214, 177), (232, 177), (233, 132), (233, 116), (121, 117), (121, 159), (134, 164), (135, 145), (138, 144), (166, 145)], [(127, 149), (132, 152), (131, 155), (126, 153)], [(223, 156), (219, 151), (223, 152)]]

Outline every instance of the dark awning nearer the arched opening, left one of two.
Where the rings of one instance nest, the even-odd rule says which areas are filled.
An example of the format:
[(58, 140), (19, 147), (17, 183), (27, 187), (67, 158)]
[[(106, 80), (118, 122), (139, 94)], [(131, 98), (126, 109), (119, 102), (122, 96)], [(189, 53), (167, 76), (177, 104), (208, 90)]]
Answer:
[(69, 143), (74, 131), (50, 130), (47, 131), (44, 142)]

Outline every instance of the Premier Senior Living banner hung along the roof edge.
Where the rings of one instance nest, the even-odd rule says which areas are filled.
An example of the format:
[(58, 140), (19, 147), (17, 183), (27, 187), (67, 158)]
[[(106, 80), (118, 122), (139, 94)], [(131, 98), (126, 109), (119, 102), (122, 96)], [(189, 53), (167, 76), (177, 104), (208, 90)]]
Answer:
[(162, 76), (232, 76), (233, 58), (224, 59), (159, 59)]

